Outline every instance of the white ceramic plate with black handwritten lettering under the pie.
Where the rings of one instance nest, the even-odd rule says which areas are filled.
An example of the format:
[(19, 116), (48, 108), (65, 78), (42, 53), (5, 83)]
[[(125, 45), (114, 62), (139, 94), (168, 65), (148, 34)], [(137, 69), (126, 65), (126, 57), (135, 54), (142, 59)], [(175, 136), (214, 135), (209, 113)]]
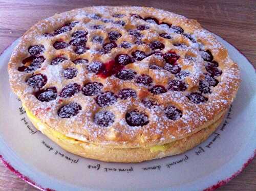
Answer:
[(214, 189), (241, 172), (256, 149), (256, 75), (248, 60), (218, 37), (241, 68), (242, 83), (225, 121), (184, 154), (138, 164), (81, 158), (58, 147), (29, 122), (11, 92), (7, 63), (16, 40), (0, 57), (0, 155), (19, 177), (40, 189)]

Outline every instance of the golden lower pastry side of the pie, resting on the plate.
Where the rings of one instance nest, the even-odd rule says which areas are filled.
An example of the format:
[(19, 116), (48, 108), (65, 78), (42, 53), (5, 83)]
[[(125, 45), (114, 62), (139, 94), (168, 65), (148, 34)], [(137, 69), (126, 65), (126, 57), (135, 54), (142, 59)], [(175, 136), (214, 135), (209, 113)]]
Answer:
[(42, 133), (44, 133), (66, 151), (82, 157), (92, 158), (105, 162), (129, 163), (142, 162), (146, 160), (163, 158), (166, 156), (178, 155), (196, 147), (197, 145), (201, 144), (201, 142), (205, 141), (218, 128), (225, 114), (226, 111), (222, 115), (220, 115), (215, 123), (198, 131), (197, 133), (173, 141), (170, 144), (166, 144), (164, 148), (156, 149), (156, 151), (152, 151), (151, 148), (119, 149), (102, 147), (90, 144), (89, 142), (82, 142), (77, 139), (70, 139), (62, 136), (58, 137), (56, 136), (55, 131), (53, 131), (49, 126), (44, 126), (41, 123), (38, 123), (34, 118), (30, 117), (29, 115), (28, 116), (36, 129), (40, 130)]

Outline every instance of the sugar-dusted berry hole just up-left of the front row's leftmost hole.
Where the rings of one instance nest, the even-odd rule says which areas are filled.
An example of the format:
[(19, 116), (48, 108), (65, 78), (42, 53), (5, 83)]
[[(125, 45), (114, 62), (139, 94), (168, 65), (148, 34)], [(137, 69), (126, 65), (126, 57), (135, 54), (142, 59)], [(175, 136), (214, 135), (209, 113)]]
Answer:
[(41, 102), (50, 102), (57, 98), (57, 89), (56, 87), (41, 89), (35, 93), (35, 97)]

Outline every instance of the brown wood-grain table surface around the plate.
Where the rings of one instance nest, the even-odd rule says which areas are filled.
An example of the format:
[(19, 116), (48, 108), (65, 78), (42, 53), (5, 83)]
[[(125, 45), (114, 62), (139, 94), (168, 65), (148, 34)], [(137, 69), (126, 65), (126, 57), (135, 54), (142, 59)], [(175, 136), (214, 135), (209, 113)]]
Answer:
[[(0, 0), (0, 52), (35, 22), (93, 5), (137, 5), (165, 9), (198, 20), (207, 30), (237, 47), (256, 68), (256, 1), (2, 1)], [(37, 190), (17, 178), (0, 162), (0, 190)], [(256, 158), (219, 190), (256, 190)]]

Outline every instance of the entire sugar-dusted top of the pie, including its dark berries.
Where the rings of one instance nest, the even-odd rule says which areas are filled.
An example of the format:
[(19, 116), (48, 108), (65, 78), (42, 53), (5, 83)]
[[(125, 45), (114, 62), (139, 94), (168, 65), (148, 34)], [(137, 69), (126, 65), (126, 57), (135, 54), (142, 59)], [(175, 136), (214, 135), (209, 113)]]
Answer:
[[(116, 148), (198, 132), (229, 107), (240, 84), (238, 65), (212, 33), (196, 20), (148, 7), (86, 7), (41, 20), (15, 47), (8, 71), (12, 90), (42, 122)], [(91, 82), (98, 85), (88, 96)], [(41, 96), (51, 101), (40, 101), (47, 88)]]

